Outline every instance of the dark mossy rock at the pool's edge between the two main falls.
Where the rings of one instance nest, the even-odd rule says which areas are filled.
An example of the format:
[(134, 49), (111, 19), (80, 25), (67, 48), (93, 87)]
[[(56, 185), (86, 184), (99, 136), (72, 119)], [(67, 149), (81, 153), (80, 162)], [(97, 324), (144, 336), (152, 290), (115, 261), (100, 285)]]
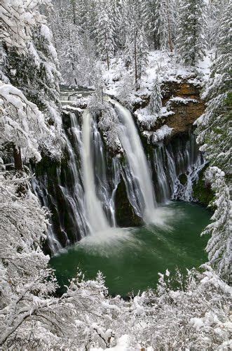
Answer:
[(116, 223), (119, 227), (140, 227), (143, 220), (135, 213), (133, 206), (128, 200), (125, 182), (121, 178), (115, 195)]

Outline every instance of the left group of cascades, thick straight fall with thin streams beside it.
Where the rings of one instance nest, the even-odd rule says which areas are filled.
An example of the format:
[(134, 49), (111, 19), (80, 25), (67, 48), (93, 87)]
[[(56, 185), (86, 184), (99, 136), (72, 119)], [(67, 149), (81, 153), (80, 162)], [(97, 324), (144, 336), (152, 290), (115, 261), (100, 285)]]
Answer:
[(116, 226), (114, 196), (120, 181), (118, 160), (113, 159), (107, 169), (96, 122), (85, 112), (82, 130), (79, 119), (78, 115), (69, 114), (69, 127), (63, 133), (64, 161), (50, 161), (49, 166), (41, 162), (33, 167), (34, 192), (52, 214), (46, 246), (51, 254), (95, 230), (109, 228), (109, 223)]

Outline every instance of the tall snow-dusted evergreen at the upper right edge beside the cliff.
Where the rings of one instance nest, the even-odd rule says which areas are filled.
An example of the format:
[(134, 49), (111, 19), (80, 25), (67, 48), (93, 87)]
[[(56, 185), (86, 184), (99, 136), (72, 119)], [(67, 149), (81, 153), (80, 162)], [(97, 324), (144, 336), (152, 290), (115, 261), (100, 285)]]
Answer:
[(200, 150), (205, 152), (212, 166), (218, 166), (225, 173), (230, 172), (231, 157), (231, 9), (231, 1), (228, 1), (221, 13), (216, 55), (203, 93), (207, 107), (196, 121)]

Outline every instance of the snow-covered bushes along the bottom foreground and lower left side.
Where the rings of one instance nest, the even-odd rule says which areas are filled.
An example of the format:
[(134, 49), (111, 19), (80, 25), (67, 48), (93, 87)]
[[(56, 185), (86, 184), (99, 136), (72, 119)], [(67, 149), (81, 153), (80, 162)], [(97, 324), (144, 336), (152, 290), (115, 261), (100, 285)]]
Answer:
[(40, 247), (46, 213), (26, 176), (4, 172), (0, 180), (2, 350), (228, 349), (230, 289), (210, 267), (189, 271), (185, 280), (177, 274), (175, 290), (166, 271), (157, 291), (129, 301), (107, 296), (102, 274), (95, 281), (77, 274), (55, 297), (49, 257)]

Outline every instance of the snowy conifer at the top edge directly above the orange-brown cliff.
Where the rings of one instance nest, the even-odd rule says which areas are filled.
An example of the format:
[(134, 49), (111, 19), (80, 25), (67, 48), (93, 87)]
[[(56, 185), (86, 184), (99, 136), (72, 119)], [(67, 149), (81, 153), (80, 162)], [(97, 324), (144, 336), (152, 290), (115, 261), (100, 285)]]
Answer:
[(205, 55), (204, 11), (204, 0), (181, 0), (177, 53), (186, 65), (196, 65)]

